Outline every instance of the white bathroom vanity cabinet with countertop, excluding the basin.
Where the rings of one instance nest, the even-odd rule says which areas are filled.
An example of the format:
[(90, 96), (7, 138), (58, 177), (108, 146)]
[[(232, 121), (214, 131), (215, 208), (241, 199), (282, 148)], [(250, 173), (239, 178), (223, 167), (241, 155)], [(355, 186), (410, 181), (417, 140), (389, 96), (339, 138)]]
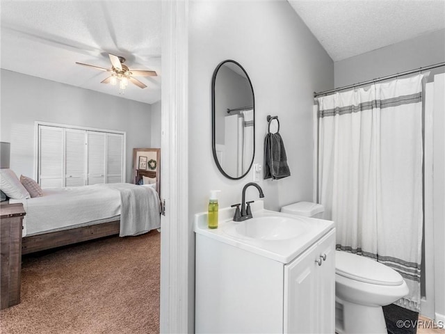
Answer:
[(310, 239), (261, 241), (231, 239), (224, 223), (209, 230), (198, 215), (195, 333), (334, 333), (332, 222), (309, 221), (320, 226)]

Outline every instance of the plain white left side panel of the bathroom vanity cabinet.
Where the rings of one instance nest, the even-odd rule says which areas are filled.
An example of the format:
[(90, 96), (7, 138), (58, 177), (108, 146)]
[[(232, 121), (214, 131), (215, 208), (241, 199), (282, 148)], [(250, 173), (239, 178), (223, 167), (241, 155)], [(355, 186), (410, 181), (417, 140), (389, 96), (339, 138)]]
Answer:
[(283, 264), (196, 234), (195, 333), (283, 333)]

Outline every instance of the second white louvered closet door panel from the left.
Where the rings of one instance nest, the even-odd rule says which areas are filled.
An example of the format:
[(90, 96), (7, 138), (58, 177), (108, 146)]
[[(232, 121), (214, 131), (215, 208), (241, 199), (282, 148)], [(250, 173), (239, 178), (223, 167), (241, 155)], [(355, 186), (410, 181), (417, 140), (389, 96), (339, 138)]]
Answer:
[(86, 131), (65, 129), (65, 186), (85, 185)]

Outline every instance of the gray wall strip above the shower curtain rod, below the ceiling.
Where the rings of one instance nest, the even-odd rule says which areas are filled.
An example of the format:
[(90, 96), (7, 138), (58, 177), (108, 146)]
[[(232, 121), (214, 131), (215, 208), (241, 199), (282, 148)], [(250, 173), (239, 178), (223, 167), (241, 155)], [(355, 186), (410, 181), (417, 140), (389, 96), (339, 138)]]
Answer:
[[(335, 87), (385, 77), (445, 61), (445, 29), (334, 63)], [(431, 71), (443, 73), (445, 67)]]

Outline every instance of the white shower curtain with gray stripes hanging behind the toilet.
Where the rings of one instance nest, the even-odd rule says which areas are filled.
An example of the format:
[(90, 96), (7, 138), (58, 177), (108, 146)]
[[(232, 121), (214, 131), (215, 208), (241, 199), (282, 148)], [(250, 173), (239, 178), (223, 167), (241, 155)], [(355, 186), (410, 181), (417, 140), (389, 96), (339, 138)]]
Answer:
[(395, 269), (420, 309), (422, 75), (318, 97), (318, 200), (337, 249)]

